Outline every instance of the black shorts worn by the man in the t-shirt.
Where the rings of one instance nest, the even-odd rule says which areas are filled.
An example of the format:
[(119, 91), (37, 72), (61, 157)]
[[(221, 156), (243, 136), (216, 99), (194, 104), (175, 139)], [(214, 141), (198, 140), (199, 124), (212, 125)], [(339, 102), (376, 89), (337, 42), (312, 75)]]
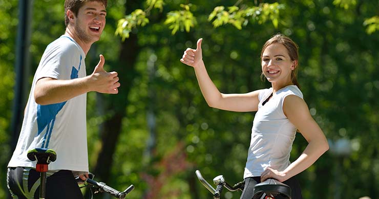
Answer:
[[(39, 172), (24, 167), (9, 167), (7, 184), (14, 198), (39, 198)], [(16, 197), (17, 196), (17, 197)], [(46, 198), (82, 199), (80, 188), (72, 171), (59, 170), (46, 180)]]

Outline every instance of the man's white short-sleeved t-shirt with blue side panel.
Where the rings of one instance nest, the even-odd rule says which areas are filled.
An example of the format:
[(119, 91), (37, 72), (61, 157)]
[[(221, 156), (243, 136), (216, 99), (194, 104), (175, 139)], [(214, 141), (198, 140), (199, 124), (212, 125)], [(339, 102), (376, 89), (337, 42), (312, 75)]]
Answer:
[(88, 171), (87, 94), (65, 102), (40, 105), (34, 100), (38, 79), (70, 80), (86, 76), (85, 53), (71, 37), (62, 35), (46, 48), (34, 75), (17, 146), (8, 167), (34, 167), (29, 150), (50, 148), (57, 153), (49, 170)]

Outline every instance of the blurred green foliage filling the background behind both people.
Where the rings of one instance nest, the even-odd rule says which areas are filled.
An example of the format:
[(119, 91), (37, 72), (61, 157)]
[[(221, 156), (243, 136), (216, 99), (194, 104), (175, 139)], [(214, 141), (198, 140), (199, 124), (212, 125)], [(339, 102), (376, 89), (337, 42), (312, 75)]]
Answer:
[[(128, 101), (128, 106), (120, 124), (116, 151), (109, 154), (113, 162), (111, 180), (107, 184), (118, 189), (134, 184), (136, 189), (128, 198), (148, 198), (149, 195), (210, 198), (196, 179), (196, 169), (201, 170), (208, 182), (219, 174), (231, 184), (242, 180), (255, 113), (233, 113), (208, 107), (193, 69), (179, 59), (186, 48), (196, 48), (197, 39), (203, 38), (203, 59), (221, 92), (262, 89), (270, 85), (260, 79), (261, 47), (271, 35), (282, 32), (300, 46), (299, 82), (304, 99), (331, 141), (331, 150), (298, 175), (304, 198), (338, 198), (339, 191), (340, 197), (349, 198), (375, 198), (379, 194), (376, 143), (379, 140), (379, 65), (376, 61), (379, 36), (377, 28), (370, 28), (376, 23), (379, 3), (373, 0), (256, 2), (191, 1), (189, 7), (185, 1), (149, 0), (137, 12), (125, 8), (125, 0), (109, 1), (106, 29), (87, 55), (87, 74), (92, 73), (99, 54), (106, 58), (106, 70), (118, 71), (128, 64), (118, 61), (122, 39), (129, 39), (124, 34), (137, 35), (140, 50), (134, 64), (136, 73), (130, 74), (132, 84), (120, 87), (130, 92), (127, 96), (118, 96)], [(3, 18), (0, 21), (0, 92), (3, 94), (0, 98), (0, 165), (3, 171), (11, 154), (8, 142), (15, 78), (17, 3), (16, 0), (0, 0)], [(256, 17), (239, 13), (249, 8), (263, 9), (264, 5), (280, 7)], [(192, 14), (192, 18), (186, 18), (189, 22), (180, 19), (184, 14), (180, 11)], [(173, 12), (177, 15), (170, 14)], [(216, 26), (217, 14), (225, 12), (228, 18), (223, 20), (223, 26)], [(257, 11), (251, 13), (257, 14)], [(133, 18), (134, 15), (139, 18)], [(177, 18), (168, 23), (174, 16)], [(263, 16), (265, 19), (260, 18)], [(369, 18), (374, 18), (373, 22)], [(64, 33), (62, 1), (34, 1), (32, 21), (29, 49), (34, 72), (46, 46)], [(127, 28), (130, 23), (135, 24)], [(115, 32), (121, 38), (115, 36)], [(30, 74), (30, 81), (32, 77)], [(114, 114), (113, 110), (104, 108), (107, 105), (119, 107), (106, 95), (88, 94), (91, 168), (103, 144), (99, 129)], [(351, 141), (349, 156), (333, 153), (332, 149), (337, 147), (334, 143), (341, 138)], [(292, 161), (306, 144), (299, 134), (293, 144)], [(5, 172), (0, 172), (0, 178), (0, 198), (5, 198), (8, 193), (3, 184)], [(224, 193), (225, 198), (240, 195)]]

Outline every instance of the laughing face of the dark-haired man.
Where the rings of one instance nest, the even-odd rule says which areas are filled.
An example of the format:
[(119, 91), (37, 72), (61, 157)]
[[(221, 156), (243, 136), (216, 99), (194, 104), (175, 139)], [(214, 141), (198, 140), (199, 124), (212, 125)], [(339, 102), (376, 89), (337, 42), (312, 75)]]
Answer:
[(80, 40), (93, 43), (100, 39), (106, 25), (107, 11), (100, 2), (87, 2), (75, 18), (75, 30)]

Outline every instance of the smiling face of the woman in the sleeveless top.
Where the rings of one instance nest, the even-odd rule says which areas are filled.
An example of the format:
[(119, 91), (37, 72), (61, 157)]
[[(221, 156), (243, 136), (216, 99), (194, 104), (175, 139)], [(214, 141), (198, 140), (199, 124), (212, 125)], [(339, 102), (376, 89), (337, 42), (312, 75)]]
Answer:
[(272, 43), (263, 51), (262, 72), (271, 83), (291, 84), (291, 73), (296, 67), (281, 43)]

